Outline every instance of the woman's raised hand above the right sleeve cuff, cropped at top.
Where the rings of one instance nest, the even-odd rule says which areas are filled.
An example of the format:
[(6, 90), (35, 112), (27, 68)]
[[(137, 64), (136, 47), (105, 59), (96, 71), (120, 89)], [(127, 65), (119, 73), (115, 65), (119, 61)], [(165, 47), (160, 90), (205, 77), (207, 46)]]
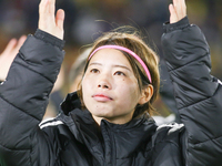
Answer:
[(185, 0), (173, 0), (173, 4), (169, 6), (170, 23), (175, 23), (186, 15)]

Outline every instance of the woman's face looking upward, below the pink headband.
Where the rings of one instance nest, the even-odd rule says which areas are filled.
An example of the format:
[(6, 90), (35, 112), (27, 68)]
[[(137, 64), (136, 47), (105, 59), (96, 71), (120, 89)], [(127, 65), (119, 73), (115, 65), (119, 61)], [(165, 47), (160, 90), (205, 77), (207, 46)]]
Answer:
[(100, 50), (91, 58), (82, 80), (82, 95), (98, 123), (105, 118), (115, 124), (129, 122), (142, 97), (130, 62), (114, 49)]

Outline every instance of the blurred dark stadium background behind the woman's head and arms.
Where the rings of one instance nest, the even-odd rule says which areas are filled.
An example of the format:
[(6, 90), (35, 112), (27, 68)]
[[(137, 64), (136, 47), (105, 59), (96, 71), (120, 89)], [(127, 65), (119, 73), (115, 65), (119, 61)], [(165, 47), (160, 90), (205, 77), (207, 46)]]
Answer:
[[(11, 38), (34, 33), (38, 27), (40, 0), (0, 0), (0, 51), (3, 51)], [(62, 65), (60, 90), (63, 96), (68, 87), (72, 64), (84, 45), (91, 44), (101, 32), (121, 25), (132, 25), (142, 30), (148, 44), (160, 58), (162, 24), (169, 20), (170, 0), (57, 0), (57, 9), (65, 11), (64, 40), (65, 58)], [(198, 24), (211, 46), (212, 74), (222, 80), (222, 1), (186, 0), (191, 23)], [(161, 61), (162, 86), (168, 83), (164, 63)], [(161, 89), (162, 91), (162, 89)], [(157, 110), (163, 115), (170, 114), (169, 106), (161, 97), (155, 102)]]

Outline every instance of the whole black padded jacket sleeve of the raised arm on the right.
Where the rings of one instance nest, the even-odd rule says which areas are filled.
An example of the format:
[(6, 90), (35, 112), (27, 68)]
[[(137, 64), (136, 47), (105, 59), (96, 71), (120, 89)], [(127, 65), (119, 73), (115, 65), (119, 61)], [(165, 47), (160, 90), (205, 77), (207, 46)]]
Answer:
[(201, 30), (188, 18), (164, 25), (162, 46), (185, 125), (188, 166), (222, 164), (222, 85), (210, 74), (210, 49)]

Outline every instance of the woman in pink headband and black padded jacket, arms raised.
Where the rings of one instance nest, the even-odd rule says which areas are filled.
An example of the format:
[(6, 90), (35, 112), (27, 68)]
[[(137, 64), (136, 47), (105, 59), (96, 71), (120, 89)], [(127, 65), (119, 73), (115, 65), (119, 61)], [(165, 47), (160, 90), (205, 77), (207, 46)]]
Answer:
[(1, 166), (220, 166), (222, 85), (209, 46), (189, 24), (184, 0), (170, 4), (163, 49), (183, 124), (158, 127), (148, 113), (159, 89), (158, 58), (137, 34), (110, 32), (89, 54), (81, 90), (41, 122), (64, 52), (54, 0), (40, 3), (29, 35), (0, 85)]

